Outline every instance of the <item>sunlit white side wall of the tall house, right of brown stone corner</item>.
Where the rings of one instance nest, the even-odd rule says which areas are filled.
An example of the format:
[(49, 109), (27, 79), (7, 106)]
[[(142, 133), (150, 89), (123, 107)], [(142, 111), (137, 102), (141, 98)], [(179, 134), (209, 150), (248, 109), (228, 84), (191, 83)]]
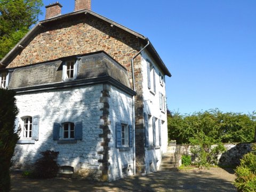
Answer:
[[(147, 51), (141, 52), (142, 61), (141, 61), (141, 72), (143, 76), (143, 98), (144, 98), (144, 111), (151, 115), (155, 116), (157, 119), (162, 120), (161, 125), (161, 140), (162, 146), (159, 149), (150, 149), (145, 148), (146, 153), (146, 172), (150, 172), (150, 164), (151, 170), (156, 171), (159, 169), (161, 164), (162, 155), (167, 153), (167, 144), (168, 144), (168, 135), (167, 135), (167, 113), (166, 111), (160, 110), (159, 108), (159, 92), (161, 92), (164, 97), (166, 97), (165, 93), (165, 81), (163, 85), (159, 82), (159, 73), (164, 74), (161, 69), (158, 68), (156, 62)], [(154, 87), (151, 86), (151, 90), (148, 89), (148, 78), (147, 78), (147, 59), (153, 64), (155, 67), (155, 82), (156, 82), (156, 92), (154, 93)], [(136, 66), (135, 66), (136, 67)], [(151, 79), (153, 81), (153, 79)], [(163, 103), (164, 105), (164, 103)], [(166, 107), (165, 107), (166, 108)], [(156, 126), (158, 126), (158, 122), (156, 122)], [(150, 139), (150, 138), (149, 138)], [(152, 139), (152, 138), (151, 138)]]

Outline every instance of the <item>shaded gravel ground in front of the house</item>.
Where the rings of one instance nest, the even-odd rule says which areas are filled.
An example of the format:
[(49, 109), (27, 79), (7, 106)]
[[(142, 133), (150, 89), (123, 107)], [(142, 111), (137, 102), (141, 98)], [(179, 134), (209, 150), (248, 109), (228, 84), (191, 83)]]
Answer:
[(231, 169), (158, 171), (146, 177), (128, 177), (113, 182), (54, 178), (47, 180), (23, 178), (12, 173), (11, 191), (236, 191), (231, 182), (236, 176)]

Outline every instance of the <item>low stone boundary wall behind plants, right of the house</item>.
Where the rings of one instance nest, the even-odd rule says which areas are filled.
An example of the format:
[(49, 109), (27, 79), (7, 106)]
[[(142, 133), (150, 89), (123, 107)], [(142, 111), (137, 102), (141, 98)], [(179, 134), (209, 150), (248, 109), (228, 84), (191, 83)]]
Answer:
[[(212, 148), (215, 146), (213, 145)], [(168, 154), (175, 154), (176, 165), (180, 166), (182, 155), (192, 155), (191, 147), (191, 145), (170, 145)], [(224, 144), (224, 147), (227, 151), (218, 155), (218, 165), (221, 166), (237, 166), (243, 155), (251, 151), (251, 143), (230, 143)]]

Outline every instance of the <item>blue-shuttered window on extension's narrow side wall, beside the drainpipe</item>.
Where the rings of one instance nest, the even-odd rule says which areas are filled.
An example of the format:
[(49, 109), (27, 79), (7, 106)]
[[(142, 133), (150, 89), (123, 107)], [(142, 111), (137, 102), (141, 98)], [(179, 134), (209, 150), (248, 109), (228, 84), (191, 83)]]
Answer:
[(116, 147), (132, 147), (132, 125), (116, 123)]

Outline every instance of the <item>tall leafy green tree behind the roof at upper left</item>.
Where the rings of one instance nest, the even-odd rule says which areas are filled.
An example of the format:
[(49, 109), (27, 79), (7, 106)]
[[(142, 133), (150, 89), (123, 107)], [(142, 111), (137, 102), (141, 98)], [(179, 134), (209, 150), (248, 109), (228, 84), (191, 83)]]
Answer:
[(0, 60), (38, 21), (42, 0), (0, 0)]

